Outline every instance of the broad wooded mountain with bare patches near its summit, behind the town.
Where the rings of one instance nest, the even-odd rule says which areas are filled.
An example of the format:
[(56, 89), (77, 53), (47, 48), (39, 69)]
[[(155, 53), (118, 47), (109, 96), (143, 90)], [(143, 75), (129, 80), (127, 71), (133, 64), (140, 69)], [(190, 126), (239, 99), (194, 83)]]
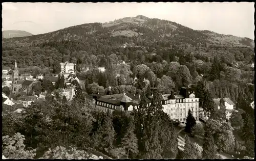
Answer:
[[(164, 52), (177, 53), (178, 49), (193, 53), (203, 62), (215, 56), (229, 66), (238, 62), (248, 65), (254, 61), (254, 41), (249, 38), (193, 30), (176, 22), (142, 15), (3, 39), (2, 46), (2, 64), (12, 67), (16, 59), (24, 68), (52, 68), (55, 62), (65, 61), (86, 64), (89, 55), (108, 57), (112, 53), (127, 62), (136, 58), (135, 52), (142, 53), (145, 58), (157, 55), (165, 60)], [(177, 51), (170, 51), (172, 49)], [(100, 65), (104, 65), (103, 60)]]

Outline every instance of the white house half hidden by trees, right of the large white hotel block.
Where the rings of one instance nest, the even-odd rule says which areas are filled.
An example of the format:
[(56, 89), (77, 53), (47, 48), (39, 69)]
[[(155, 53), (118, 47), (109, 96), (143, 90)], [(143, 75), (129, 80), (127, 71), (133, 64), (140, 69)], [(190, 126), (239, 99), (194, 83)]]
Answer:
[[(217, 105), (217, 108), (220, 109), (220, 99), (221, 98), (214, 98), (215, 104)], [(236, 111), (234, 110), (234, 102), (230, 98), (223, 98), (224, 99), (224, 105), (226, 108), (226, 119), (230, 119), (232, 112)]]

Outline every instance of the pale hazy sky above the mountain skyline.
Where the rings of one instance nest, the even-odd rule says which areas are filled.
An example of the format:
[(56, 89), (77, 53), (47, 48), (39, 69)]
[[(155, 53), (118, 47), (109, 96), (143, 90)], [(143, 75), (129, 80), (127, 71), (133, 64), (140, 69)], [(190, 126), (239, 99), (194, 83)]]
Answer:
[(42, 34), (143, 15), (254, 39), (254, 3), (2, 3), (3, 29)]

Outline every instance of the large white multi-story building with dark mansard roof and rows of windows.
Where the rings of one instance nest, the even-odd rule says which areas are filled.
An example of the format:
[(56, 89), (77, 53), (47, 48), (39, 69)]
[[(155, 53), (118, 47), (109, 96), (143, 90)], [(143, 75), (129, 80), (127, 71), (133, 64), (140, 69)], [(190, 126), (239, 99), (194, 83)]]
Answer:
[(162, 95), (162, 107), (172, 120), (186, 122), (189, 109), (195, 119), (199, 120), (199, 98), (196, 98), (195, 91), (190, 88), (183, 87), (178, 95)]

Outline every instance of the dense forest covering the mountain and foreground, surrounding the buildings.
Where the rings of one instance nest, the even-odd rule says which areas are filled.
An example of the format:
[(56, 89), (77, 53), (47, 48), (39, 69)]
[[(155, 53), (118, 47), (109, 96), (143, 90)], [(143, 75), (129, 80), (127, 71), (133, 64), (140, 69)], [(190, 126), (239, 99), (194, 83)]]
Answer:
[[(5, 127), (3, 136), (21, 133), (26, 147), (37, 148), (37, 158), (49, 158), (43, 156), (48, 148), (68, 145), (95, 148), (113, 158), (216, 158), (217, 151), (233, 151), (225, 146), (229, 145), (241, 151), (242, 157), (251, 157), (254, 145), (250, 143), (253, 131), (249, 129), (254, 129), (254, 116), (249, 103), (254, 98), (253, 47), (248, 38), (195, 31), (175, 22), (144, 16), (3, 39), (3, 66), (13, 68), (17, 60), (22, 73), (51, 74), (59, 72), (58, 63), (70, 61), (76, 64), (76, 75), (84, 85), (84, 93), (76, 85), (76, 98), (67, 102), (57, 93), (50, 95), (59, 84), (52, 89), (46, 89), (44, 82), (38, 84), (36, 91), (50, 91), (47, 100), (35, 102), (27, 113), (19, 116), (7, 114), (3, 119), (5, 125), (12, 123)], [(118, 63), (120, 60), (125, 64)], [(99, 66), (106, 71), (99, 72)], [(89, 70), (83, 71), (84, 67)], [(92, 102), (84, 100), (84, 96), (105, 95), (109, 86), (113, 94), (141, 94), (141, 108), (131, 114), (115, 111), (113, 115), (93, 110)], [(195, 89), (200, 106), (214, 121), (204, 127), (187, 125), (204, 129), (204, 145), (203, 150), (195, 150), (198, 146), (190, 144), (186, 137), (189, 147), (182, 153), (176, 148), (173, 122), (161, 112), (158, 102), (160, 94), (178, 92), (184, 86)], [(153, 93), (152, 106), (146, 111), (145, 98)], [(225, 115), (223, 110), (215, 109), (212, 98), (217, 97), (229, 97), (237, 104), (239, 113), (233, 114), (229, 123), (220, 119)], [(13, 117), (20, 119), (13, 121)], [(187, 119), (194, 120), (193, 116)], [(189, 127), (186, 131), (190, 136), (200, 130)]]

